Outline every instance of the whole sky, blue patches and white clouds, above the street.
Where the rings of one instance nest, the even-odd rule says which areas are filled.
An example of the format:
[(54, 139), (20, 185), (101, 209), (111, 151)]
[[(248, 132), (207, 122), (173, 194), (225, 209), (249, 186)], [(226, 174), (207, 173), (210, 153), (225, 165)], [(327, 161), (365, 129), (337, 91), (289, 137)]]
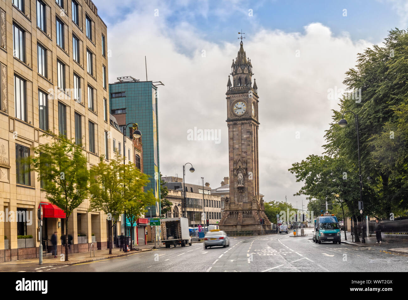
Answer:
[[(405, 0), (93, 0), (108, 27), (109, 83), (119, 76), (162, 81), (158, 88), (160, 171), (219, 187), (228, 172), (226, 84), (239, 50), (251, 58), (259, 96), (259, 183), (265, 201), (287, 201), (302, 183), (288, 169), (322, 154), (324, 131), (357, 53), (406, 29)], [(113, 4), (114, 3), (114, 4)], [(330, 98), (330, 97), (329, 97)], [(188, 132), (214, 129), (215, 141)], [(189, 167), (188, 167), (189, 168)], [(248, 170), (249, 171), (249, 170)]]

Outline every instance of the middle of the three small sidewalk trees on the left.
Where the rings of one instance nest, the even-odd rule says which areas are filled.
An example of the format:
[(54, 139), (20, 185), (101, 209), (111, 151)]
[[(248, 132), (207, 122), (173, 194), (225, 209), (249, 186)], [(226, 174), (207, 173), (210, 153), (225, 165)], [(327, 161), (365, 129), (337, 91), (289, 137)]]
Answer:
[(112, 229), (124, 212), (126, 200), (123, 197), (123, 160), (116, 153), (109, 163), (104, 156), (91, 168), (91, 201), (89, 211), (104, 211), (108, 214), (109, 254), (112, 254)]

